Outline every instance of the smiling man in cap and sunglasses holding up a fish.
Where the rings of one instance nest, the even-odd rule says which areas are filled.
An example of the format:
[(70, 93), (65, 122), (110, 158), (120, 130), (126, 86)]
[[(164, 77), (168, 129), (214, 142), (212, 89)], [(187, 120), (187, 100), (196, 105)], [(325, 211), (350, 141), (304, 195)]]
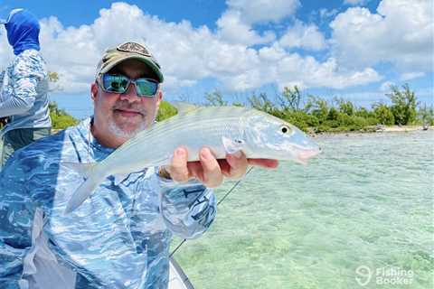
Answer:
[(248, 163), (277, 165), (243, 154), (218, 162), (207, 148), (200, 162), (187, 163), (179, 147), (167, 168), (109, 176), (77, 210), (63, 214), (83, 180), (61, 162), (101, 161), (152, 126), (162, 82), (146, 47), (126, 42), (109, 49), (90, 89), (94, 116), (19, 150), (6, 164), (0, 173), (5, 288), (166, 288), (173, 234), (199, 237), (215, 217), (209, 188), (223, 176), (241, 177)]

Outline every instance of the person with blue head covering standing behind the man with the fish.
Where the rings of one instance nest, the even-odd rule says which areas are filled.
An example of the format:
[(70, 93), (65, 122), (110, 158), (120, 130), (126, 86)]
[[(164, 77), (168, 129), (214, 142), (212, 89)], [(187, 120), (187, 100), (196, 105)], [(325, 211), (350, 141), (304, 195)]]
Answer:
[[(15, 9), (5, 23), (7, 40), (14, 49), (14, 61), (0, 82), (0, 132), (3, 150), (0, 168), (14, 151), (50, 135), (52, 122), (48, 109), (48, 74), (40, 53), (40, 26), (36, 17)], [(1, 143), (1, 142), (0, 142)]]

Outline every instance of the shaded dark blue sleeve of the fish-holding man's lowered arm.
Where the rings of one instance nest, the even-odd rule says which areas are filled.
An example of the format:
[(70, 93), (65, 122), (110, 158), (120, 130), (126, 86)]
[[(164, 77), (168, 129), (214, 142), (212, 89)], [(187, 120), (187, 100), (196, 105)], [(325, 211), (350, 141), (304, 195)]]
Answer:
[(25, 173), (17, 158), (11, 158), (0, 172), (0, 284), (20, 288), (24, 256), (32, 247), (35, 207), (24, 179), (11, 177)]

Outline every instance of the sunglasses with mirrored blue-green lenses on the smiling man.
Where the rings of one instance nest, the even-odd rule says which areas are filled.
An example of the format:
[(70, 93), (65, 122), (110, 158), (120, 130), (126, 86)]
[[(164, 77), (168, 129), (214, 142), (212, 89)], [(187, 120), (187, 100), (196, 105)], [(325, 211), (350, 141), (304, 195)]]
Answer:
[(131, 83), (136, 85), (137, 96), (153, 98), (158, 91), (158, 82), (154, 79), (129, 79), (122, 74), (102, 74), (99, 86), (109, 93), (125, 93)]

